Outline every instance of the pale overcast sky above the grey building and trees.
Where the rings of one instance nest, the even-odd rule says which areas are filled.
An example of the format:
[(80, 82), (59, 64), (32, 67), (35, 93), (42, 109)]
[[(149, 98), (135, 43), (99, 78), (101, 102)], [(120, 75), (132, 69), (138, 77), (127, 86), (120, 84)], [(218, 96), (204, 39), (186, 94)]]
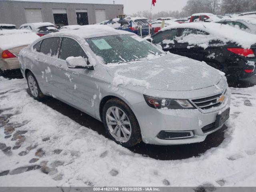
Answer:
[[(113, 0), (27, 0), (27, 1), (43, 1), (43, 2), (79, 2), (79, 3), (103, 3), (112, 4)], [(152, 8), (152, 12), (169, 10), (181, 10), (188, 0), (156, 0), (156, 6)], [(132, 14), (138, 11), (150, 10), (152, 0), (115, 0), (116, 4), (124, 4), (124, 13)]]

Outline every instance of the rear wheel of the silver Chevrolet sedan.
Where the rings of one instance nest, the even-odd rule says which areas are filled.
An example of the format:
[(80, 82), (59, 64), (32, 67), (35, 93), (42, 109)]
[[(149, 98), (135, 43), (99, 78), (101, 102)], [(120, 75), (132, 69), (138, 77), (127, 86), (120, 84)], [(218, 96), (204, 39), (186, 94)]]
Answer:
[(44, 94), (41, 92), (38, 82), (32, 72), (28, 72), (26, 76), (28, 82), (28, 88), (30, 90), (30, 94), (36, 100), (40, 100), (44, 97)]

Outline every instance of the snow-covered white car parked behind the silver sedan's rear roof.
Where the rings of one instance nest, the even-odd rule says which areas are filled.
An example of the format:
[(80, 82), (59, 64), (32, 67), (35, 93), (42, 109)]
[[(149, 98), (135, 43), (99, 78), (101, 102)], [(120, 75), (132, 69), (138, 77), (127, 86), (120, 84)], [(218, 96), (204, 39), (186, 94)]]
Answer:
[(51, 32), (58, 32), (58, 29), (55, 27), (55, 25), (50, 22), (26, 23), (22, 24), (19, 29), (31, 30), (40, 37)]

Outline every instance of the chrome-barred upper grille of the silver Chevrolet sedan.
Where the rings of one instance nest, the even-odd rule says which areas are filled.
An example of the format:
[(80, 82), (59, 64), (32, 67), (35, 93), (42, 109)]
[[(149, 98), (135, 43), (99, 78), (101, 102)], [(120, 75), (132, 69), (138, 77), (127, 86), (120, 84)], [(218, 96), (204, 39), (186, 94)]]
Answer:
[(210, 97), (193, 99), (192, 102), (200, 109), (206, 110), (212, 107), (218, 107), (222, 104), (223, 101), (220, 101), (221, 96), (226, 95), (226, 90), (221, 93)]

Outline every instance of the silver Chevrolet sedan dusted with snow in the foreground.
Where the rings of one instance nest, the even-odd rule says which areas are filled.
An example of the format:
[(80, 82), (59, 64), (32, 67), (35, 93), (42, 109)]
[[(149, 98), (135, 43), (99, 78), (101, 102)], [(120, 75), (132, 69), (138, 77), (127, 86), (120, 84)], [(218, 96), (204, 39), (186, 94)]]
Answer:
[(19, 61), (36, 100), (52, 96), (89, 114), (126, 147), (202, 142), (229, 117), (222, 72), (130, 32), (93, 25), (48, 34)]

